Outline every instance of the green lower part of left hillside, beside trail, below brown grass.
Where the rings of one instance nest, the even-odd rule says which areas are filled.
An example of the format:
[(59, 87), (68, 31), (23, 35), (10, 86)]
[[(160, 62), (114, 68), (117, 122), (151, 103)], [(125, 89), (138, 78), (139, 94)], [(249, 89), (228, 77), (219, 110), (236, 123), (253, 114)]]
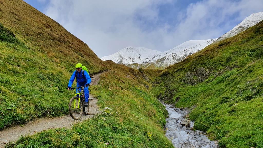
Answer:
[[(70, 73), (28, 48), (0, 23), (0, 129), (68, 114)], [(22, 56), (21, 56), (22, 55)]]

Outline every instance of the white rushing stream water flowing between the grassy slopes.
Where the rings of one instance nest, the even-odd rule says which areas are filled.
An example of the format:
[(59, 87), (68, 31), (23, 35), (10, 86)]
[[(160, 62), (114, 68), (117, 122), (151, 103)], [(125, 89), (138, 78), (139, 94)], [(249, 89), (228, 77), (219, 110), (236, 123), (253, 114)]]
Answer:
[(194, 122), (190, 122), (190, 127), (181, 125), (185, 120), (185, 115), (189, 112), (174, 108), (171, 105), (164, 104), (169, 112), (169, 117), (166, 119), (166, 137), (170, 139), (176, 148), (216, 148), (218, 145), (215, 141), (209, 140), (204, 132), (191, 128)]

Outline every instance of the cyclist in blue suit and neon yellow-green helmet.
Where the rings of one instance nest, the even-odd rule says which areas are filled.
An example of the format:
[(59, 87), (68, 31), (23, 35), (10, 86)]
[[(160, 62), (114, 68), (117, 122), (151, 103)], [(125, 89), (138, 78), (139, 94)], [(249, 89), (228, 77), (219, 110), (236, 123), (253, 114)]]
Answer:
[[(85, 93), (85, 103), (84, 103), (84, 106), (88, 106), (88, 102), (89, 102), (89, 85), (90, 85), (90, 82), (91, 82), (91, 78), (89, 77), (89, 74), (87, 71), (85, 70), (82, 70), (82, 64), (81, 63), (78, 63), (76, 66), (76, 69), (72, 76), (70, 77), (69, 79), (69, 82), (68, 82), (68, 87), (67, 89), (70, 90), (75, 78), (76, 78), (76, 81), (77, 81), (77, 87), (80, 87), (80, 86), (85, 86), (84, 87), (84, 93)], [(79, 91), (81, 91), (81, 88), (78, 88)], [(78, 90), (76, 89), (76, 96), (78, 97), (78, 95), (80, 95), (78, 93)]]

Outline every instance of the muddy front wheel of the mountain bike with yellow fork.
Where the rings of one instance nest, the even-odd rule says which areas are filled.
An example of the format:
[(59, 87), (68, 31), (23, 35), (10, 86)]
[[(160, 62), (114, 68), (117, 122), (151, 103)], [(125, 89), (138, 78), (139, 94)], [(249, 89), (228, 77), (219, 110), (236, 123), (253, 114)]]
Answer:
[(72, 117), (72, 119), (74, 120), (80, 119), (83, 112), (82, 100), (76, 96), (72, 97), (69, 101), (68, 109), (69, 109), (69, 115)]

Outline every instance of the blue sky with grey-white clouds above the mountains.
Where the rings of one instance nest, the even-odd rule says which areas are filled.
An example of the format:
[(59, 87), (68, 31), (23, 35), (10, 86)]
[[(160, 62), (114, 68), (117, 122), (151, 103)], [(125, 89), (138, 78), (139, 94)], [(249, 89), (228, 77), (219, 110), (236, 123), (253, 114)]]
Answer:
[(167, 51), (188, 40), (218, 38), (262, 0), (24, 0), (98, 55), (127, 46)]

